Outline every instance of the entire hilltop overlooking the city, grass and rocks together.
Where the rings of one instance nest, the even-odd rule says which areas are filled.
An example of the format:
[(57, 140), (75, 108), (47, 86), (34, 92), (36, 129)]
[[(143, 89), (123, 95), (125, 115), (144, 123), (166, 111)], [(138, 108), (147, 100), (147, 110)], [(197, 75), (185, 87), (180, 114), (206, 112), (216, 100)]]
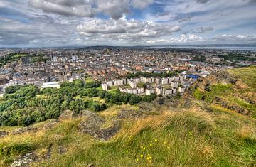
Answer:
[(255, 83), (255, 67), (231, 69), (181, 99), (1, 127), (0, 165), (256, 166)]

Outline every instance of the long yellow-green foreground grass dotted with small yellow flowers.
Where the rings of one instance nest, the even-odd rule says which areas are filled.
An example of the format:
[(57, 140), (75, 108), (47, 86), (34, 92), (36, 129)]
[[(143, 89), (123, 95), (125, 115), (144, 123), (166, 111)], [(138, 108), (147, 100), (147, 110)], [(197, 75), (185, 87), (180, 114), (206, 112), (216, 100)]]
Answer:
[[(104, 113), (101, 115), (106, 117)], [(79, 119), (73, 119), (36, 134), (1, 139), (0, 164), (8, 166), (15, 157), (31, 150), (41, 157), (50, 144), (53, 144), (52, 158), (35, 166), (86, 166), (90, 163), (95, 166), (256, 164), (255, 119), (238, 117), (221, 107), (213, 106), (212, 114), (193, 108), (126, 122), (119, 134), (106, 142), (80, 134), (77, 130), (79, 122)], [(60, 146), (67, 152), (58, 153)]]

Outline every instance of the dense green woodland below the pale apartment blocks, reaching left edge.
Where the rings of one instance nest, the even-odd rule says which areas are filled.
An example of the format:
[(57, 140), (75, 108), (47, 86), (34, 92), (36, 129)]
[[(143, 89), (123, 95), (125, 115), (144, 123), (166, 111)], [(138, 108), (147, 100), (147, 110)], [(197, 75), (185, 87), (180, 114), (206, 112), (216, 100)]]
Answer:
[[(98, 112), (112, 104), (151, 102), (156, 95), (137, 96), (124, 92), (98, 90), (100, 82), (82, 80), (63, 82), (60, 89), (48, 87), (39, 90), (35, 85), (6, 87), (0, 99), (0, 126), (28, 126), (34, 122), (57, 119), (61, 112), (70, 109), (77, 114), (83, 109)], [(100, 97), (100, 100), (84, 97)]]

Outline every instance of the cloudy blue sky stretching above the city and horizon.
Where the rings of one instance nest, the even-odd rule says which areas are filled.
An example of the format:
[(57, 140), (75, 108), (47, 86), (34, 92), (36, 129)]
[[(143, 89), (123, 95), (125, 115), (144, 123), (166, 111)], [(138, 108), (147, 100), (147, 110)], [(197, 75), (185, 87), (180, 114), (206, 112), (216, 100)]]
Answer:
[(0, 0), (0, 47), (256, 43), (256, 0)]

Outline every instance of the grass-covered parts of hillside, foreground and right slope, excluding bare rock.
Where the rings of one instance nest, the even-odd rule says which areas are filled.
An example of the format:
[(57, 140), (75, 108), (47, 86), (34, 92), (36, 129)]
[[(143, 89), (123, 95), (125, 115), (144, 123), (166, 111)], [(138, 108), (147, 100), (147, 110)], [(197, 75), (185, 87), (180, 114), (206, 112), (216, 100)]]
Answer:
[[(245, 78), (255, 69), (239, 70)], [(240, 75), (236, 72), (228, 71), (234, 77)], [(34, 124), (35, 132), (10, 133), (0, 139), (0, 166), (10, 166), (17, 157), (31, 152), (38, 156), (32, 166), (256, 166), (256, 119), (220, 104), (231, 103), (233, 97), (233, 104), (252, 112), (255, 87), (246, 78), (249, 80), (235, 84), (211, 82), (210, 91), (196, 89), (193, 93), (198, 97), (192, 97), (186, 108), (125, 119), (109, 141), (80, 133), (78, 126), (85, 118), (63, 120), (50, 129), (41, 129), (50, 120)], [(249, 98), (245, 98), (247, 93)], [(121, 110), (140, 111), (137, 106), (114, 106), (99, 112), (107, 120), (103, 126), (116, 120)]]

